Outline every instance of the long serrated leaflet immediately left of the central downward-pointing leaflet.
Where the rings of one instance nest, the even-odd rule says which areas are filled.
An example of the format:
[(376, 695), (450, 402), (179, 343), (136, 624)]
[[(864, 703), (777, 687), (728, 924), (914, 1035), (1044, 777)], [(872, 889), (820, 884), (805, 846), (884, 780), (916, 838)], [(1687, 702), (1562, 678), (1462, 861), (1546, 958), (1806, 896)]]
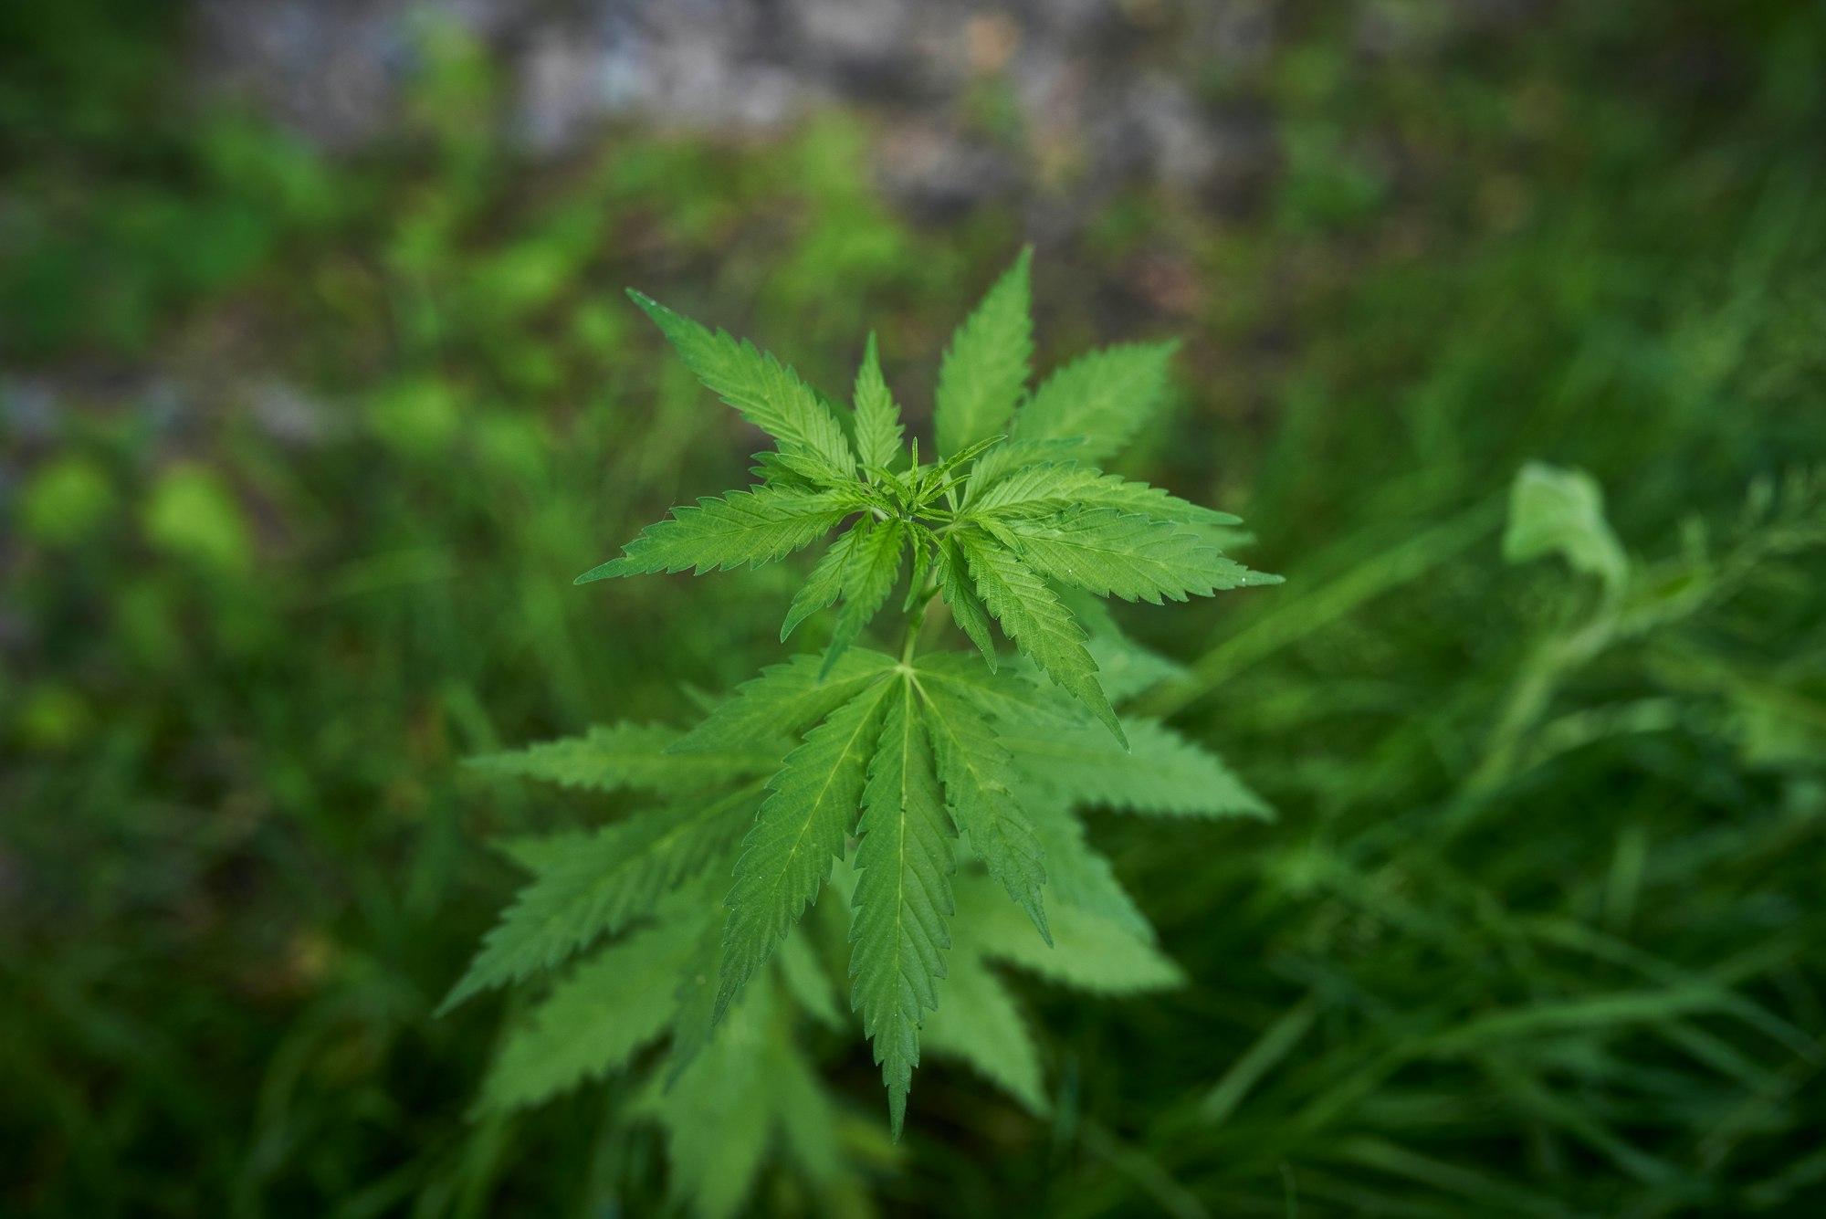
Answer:
[(729, 1000), (800, 920), (805, 903), (816, 901), (831, 861), (844, 854), (886, 701), (898, 684), (869, 686), (831, 712), (769, 781), (772, 794), (741, 845), (736, 885), (725, 901), (729, 923), (714, 1020), (721, 1020)]

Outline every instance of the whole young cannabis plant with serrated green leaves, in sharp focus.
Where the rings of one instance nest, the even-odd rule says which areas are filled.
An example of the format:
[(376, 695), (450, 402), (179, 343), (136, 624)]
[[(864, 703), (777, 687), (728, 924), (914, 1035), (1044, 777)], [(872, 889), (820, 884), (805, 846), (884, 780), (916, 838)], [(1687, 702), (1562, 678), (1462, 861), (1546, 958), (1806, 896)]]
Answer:
[[(847, 898), (851, 1009), (895, 1135), (928, 1022), (1043, 1110), (1037, 1055), (988, 958), (1107, 991), (1176, 978), (1076, 807), (1265, 812), (1214, 755), (1116, 715), (1112, 703), (1172, 666), (1121, 639), (1086, 597), (1160, 604), (1278, 582), (1220, 553), (1234, 516), (1097, 467), (1147, 422), (1172, 345), (1094, 352), (1028, 394), (1023, 254), (944, 356), (935, 460), (922, 462), (918, 440), (902, 445), (873, 336), (844, 409), (752, 345), (632, 296), (776, 447), (756, 458), (758, 485), (672, 509), (577, 582), (756, 568), (840, 529), (780, 637), (833, 604), (836, 615), (822, 655), (763, 670), (690, 732), (619, 724), (484, 759), (666, 801), (592, 836), (511, 847), (533, 880), (446, 1005), (641, 929), (553, 989), (508, 1042), (486, 1102), (539, 1100), (670, 1031), (672, 1088), (656, 1084), (646, 1102), (672, 1130), (674, 1157), (692, 1157), (729, 1110), (710, 1100), (718, 1088), (765, 1091), (787, 1142), (802, 1139), (809, 1119), (783, 1106), (809, 1106), (818, 1089), (771, 1013), (778, 980), (802, 1009), (840, 1022), (816, 951), (789, 938), (831, 885)], [(920, 650), (935, 600), (981, 659)], [(878, 651), (864, 633), (889, 604), (895, 642)], [(1019, 659), (997, 653), (997, 624)], [(851, 867), (833, 876), (845, 854)], [(990, 885), (1032, 929), (1012, 934)], [(767, 967), (776, 953), (778, 971)], [(953, 995), (948, 973), (955, 1015), (937, 1018)], [(692, 1082), (699, 1053), (718, 1057), (719, 1082)], [(761, 1133), (743, 1139), (767, 1137), (767, 1122), (750, 1124)]]

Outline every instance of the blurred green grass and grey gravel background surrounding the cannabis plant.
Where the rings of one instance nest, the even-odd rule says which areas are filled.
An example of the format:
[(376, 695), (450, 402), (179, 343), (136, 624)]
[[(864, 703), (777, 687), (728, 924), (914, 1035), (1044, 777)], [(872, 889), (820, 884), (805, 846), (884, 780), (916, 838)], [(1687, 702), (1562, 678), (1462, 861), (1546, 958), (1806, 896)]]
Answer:
[(1822, 130), (1800, 0), (0, 5), (0, 1212), (685, 1214), (431, 1018), (601, 816), (460, 759), (780, 653), (570, 586), (758, 447), (621, 290), (924, 431), (1032, 241), (1287, 575), (1123, 615), (1280, 818), (1096, 821), (1194, 982), (1021, 982), (1055, 1120), (825, 1035), (750, 1208), (1826, 1214)]

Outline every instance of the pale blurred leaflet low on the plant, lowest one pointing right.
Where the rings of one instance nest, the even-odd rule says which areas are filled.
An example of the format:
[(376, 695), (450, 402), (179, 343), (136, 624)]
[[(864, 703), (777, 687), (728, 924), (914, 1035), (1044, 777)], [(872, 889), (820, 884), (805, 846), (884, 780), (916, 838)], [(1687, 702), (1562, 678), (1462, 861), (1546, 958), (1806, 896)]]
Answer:
[(1103, 995), (1139, 995), (1185, 984), (1185, 973), (1127, 927), (1090, 911), (1055, 905), (1052, 945), (984, 878), (957, 883), (957, 925), (977, 951), (1048, 982)]

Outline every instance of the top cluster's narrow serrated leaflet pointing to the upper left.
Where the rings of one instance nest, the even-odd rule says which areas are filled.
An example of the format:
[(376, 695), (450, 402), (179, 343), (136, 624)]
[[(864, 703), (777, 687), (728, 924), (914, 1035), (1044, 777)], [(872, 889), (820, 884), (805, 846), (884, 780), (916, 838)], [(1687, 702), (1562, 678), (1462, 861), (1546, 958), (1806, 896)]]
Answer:
[(792, 369), (782, 367), (752, 343), (738, 343), (725, 330), (712, 334), (632, 288), (628, 296), (665, 332), (685, 367), (740, 411), (741, 418), (780, 442), (782, 451), (814, 456), (831, 476), (855, 471), (855, 454), (836, 416), (820, 405), (818, 396)]

